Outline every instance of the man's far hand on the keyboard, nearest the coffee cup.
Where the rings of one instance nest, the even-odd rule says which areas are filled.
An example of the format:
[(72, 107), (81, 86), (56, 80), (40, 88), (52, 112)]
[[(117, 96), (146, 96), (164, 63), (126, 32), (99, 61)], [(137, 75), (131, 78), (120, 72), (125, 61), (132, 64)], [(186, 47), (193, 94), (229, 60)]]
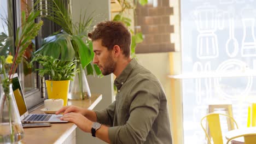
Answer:
[(82, 109), (80, 107), (77, 107), (77, 106), (73, 106), (73, 105), (70, 105), (70, 106), (64, 106), (62, 107), (59, 111), (57, 111), (55, 114), (56, 115), (59, 115), (61, 112), (63, 112), (63, 115), (66, 115), (67, 113), (69, 112), (75, 112), (75, 113), (80, 113), (82, 114), (83, 116), (86, 115), (86, 109)]

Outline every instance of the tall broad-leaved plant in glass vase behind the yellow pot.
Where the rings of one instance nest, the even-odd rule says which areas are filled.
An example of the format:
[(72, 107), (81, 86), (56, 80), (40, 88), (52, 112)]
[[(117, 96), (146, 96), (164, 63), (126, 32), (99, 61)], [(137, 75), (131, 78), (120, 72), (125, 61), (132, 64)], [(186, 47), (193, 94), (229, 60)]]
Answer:
[[(84, 16), (80, 15), (78, 23), (74, 23), (70, 6), (69, 0), (47, 0), (47, 3), (40, 5), (42, 17), (46, 17), (61, 26), (61, 31), (45, 38), (42, 46), (35, 53), (59, 58), (61, 61), (77, 59), (79, 73), (74, 77), (74, 82), (77, 81), (77, 83), (72, 86), (79, 85), (79, 88), (71, 87), (71, 89), (76, 89), (76, 92), (71, 92), (71, 97), (69, 98), (84, 99), (91, 95), (84, 73), (85, 67), (88, 75), (94, 74), (94, 71), (96, 75), (100, 75), (101, 71), (97, 65), (91, 64), (94, 52), (92, 51), (92, 43), (88, 40), (87, 34), (92, 17), (89, 15), (88, 19), (86, 19), (85, 13)], [(84, 89), (86, 87), (88, 89)], [(80, 91), (78, 91), (79, 89)], [(77, 93), (79, 93), (78, 97), (75, 95)]]

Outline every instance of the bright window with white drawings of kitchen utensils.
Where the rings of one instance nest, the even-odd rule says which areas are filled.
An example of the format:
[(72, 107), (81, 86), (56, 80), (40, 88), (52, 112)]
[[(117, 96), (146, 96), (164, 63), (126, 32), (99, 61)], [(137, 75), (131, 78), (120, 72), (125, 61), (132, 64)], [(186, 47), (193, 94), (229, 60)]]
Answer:
[(191, 76), (182, 86), (184, 143), (206, 143), (200, 120), (212, 101), (232, 103), (238, 126), (246, 127), (256, 87), (253, 5), (255, 1), (181, 1), (182, 74)]

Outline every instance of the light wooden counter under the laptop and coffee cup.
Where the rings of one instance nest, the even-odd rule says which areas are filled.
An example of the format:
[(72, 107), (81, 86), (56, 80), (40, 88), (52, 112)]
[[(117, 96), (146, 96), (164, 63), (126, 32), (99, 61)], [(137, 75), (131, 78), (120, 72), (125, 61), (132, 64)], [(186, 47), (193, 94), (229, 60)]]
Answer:
[[(68, 100), (68, 105), (75, 105), (92, 110), (102, 99), (101, 94), (92, 94), (90, 99), (86, 100)], [(43, 113), (40, 111), (43, 106), (31, 113)], [(75, 138), (74, 123), (53, 123), (51, 127), (25, 128), (25, 137), (21, 143), (70, 143), (67, 139)], [(71, 137), (72, 136), (72, 137)]]

